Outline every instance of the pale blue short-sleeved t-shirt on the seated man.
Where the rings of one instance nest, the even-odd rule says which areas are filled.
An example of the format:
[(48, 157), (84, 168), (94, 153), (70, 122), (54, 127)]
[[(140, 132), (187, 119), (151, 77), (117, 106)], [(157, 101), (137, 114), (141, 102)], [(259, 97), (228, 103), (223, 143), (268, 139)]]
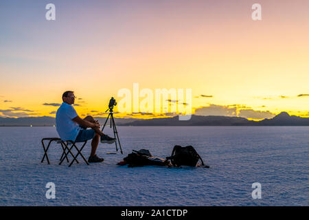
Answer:
[(56, 130), (61, 140), (76, 140), (78, 132), (80, 131), (78, 123), (72, 120), (76, 118), (76, 116), (78, 116), (78, 114), (74, 107), (71, 106), (71, 104), (62, 102), (56, 113)]

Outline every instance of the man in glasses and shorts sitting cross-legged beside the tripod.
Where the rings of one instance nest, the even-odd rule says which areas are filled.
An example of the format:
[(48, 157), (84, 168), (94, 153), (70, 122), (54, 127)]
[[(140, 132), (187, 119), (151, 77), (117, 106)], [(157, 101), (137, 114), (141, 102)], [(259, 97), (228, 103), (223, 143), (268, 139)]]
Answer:
[[(62, 94), (62, 104), (56, 113), (56, 130), (63, 141), (71, 140), (75, 142), (84, 142), (91, 140), (91, 154), (88, 162), (103, 162), (104, 159), (95, 154), (97, 151), (100, 137), (102, 143), (113, 144), (116, 139), (104, 135), (100, 131), (100, 124), (91, 115), (82, 119), (76, 113), (74, 104), (76, 96), (73, 91), (65, 91)], [(88, 129), (87, 128), (91, 128)]]

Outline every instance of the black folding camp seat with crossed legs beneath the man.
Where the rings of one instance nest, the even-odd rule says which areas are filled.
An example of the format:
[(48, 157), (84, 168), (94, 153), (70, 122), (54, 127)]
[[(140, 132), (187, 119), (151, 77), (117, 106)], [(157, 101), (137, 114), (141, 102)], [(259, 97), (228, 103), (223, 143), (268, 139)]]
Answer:
[[(44, 144), (44, 141), (49, 141), (47, 147), (45, 148), (45, 144)], [(73, 164), (74, 161), (76, 161), (77, 163), (78, 162), (78, 155), (81, 155), (82, 156), (82, 159), (84, 159), (84, 161), (86, 162), (87, 165), (89, 165), (89, 163), (87, 162), (87, 159), (84, 158), (84, 155), (82, 155), (81, 151), (82, 151), (82, 148), (84, 148), (84, 146), (87, 144), (87, 141), (83, 142), (84, 144), (82, 144), (82, 147), (79, 149), (77, 146), (76, 146), (76, 142), (72, 142), (72, 141), (62, 141), (60, 138), (58, 137), (45, 137), (41, 140), (42, 142), (42, 146), (43, 146), (43, 149), (44, 149), (44, 155), (43, 155), (43, 158), (41, 160), (41, 162), (44, 161), (45, 157), (47, 159), (47, 163), (49, 163), (49, 158), (48, 158), (48, 155), (47, 155), (47, 151), (49, 149), (49, 146), (52, 144), (52, 142), (56, 142), (57, 144), (61, 144), (61, 147), (62, 147), (62, 155), (60, 157), (60, 164), (62, 164), (62, 162), (67, 159), (67, 162), (69, 162), (69, 159), (67, 157), (67, 155), (70, 153), (71, 156), (73, 157), (73, 160), (71, 161), (71, 163), (69, 164), (69, 166), (71, 166)], [(69, 144), (72, 144), (71, 148), (69, 148)], [(76, 155), (73, 155), (72, 153), (72, 148), (75, 147), (76, 150), (78, 151), (78, 153)]]

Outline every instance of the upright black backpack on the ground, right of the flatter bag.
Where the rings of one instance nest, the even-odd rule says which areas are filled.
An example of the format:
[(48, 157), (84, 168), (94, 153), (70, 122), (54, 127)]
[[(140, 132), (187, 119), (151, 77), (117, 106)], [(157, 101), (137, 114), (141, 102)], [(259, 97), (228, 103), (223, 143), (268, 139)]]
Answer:
[(209, 168), (209, 166), (204, 164), (203, 159), (198, 155), (193, 146), (176, 145), (173, 148), (172, 155), (166, 157), (166, 159), (170, 159), (173, 166), (196, 166), (198, 159), (201, 159), (202, 166)]

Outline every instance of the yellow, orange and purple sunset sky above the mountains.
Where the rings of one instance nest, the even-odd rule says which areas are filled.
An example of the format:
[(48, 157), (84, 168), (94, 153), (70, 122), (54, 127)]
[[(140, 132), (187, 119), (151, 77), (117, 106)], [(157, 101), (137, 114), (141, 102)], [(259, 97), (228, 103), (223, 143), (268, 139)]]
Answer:
[(66, 90), (78, 114), (99, 115), (133, 83), (192, 89), (199, 115), (309, 117), (308, 11), (308, 0), (1, 0), (0, 117), (54, 117)]

